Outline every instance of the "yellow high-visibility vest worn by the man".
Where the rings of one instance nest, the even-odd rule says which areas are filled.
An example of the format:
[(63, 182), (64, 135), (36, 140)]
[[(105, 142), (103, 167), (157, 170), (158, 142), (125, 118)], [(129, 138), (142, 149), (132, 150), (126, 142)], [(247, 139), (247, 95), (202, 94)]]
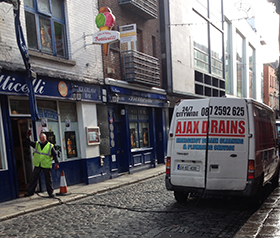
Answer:
[(51, 169), (52, 168), (52, 151), (53, 144), (48, 142), (43, 149), (39, 141), (36, 142), (35, 151), (33, 155), (33, 165), (36, 167), (41, 166), (42, 168)]

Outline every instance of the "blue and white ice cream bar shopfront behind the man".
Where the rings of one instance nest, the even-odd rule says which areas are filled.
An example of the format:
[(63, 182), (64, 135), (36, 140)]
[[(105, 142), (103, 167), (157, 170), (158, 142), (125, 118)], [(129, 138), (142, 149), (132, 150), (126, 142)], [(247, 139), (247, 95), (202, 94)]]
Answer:
[[(21, 197), (31, 179), (33, 149), (26, 141), (26, 131), (33, 128), (25, 77), (24, 72), (0, 73), (0, 202)], [(100, 157), (96, 146), (88, 147), (83, 142), (85, 128), (97, 126), (96, 105), (102, 103), (101, 86), (43, 76), (32, 84), (39, 114), (37, 137), (44, 132), (55, 145), (68, 185), (86, 182), (85, 160), (99, 161)], [(87, 122), (78, 116), (84, 108), (90, 108), (87, 111), (92, 119)], [(53, 185), (58, 188), (60, 170), (52, 173)], [(45, 190), (43, 176), (38, 189)]]

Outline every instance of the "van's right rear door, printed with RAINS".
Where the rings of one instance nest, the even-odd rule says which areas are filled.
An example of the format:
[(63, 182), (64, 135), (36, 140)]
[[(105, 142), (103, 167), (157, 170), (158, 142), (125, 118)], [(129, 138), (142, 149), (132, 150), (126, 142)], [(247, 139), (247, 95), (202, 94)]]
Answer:
[(243, 190), (248, 166), (244, 99), (210, 98), (206, 189)]

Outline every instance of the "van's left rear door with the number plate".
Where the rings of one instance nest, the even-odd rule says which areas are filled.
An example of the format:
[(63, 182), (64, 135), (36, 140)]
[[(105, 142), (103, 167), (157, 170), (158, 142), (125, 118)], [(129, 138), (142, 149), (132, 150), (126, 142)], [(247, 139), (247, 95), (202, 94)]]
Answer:
[(174, 110), (170, 148), (170, 182), (205, 188), (205, 158), (209, 98), (184, 100)]

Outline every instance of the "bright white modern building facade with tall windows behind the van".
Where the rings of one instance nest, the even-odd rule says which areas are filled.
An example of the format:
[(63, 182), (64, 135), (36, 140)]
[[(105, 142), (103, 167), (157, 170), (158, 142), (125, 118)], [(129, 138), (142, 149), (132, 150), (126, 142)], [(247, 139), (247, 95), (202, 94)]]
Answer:
[(178, 99), (209, 96), (261, 101), (260, 36), (234, 3), (163, 1), (162, 56), (171, 107)]

